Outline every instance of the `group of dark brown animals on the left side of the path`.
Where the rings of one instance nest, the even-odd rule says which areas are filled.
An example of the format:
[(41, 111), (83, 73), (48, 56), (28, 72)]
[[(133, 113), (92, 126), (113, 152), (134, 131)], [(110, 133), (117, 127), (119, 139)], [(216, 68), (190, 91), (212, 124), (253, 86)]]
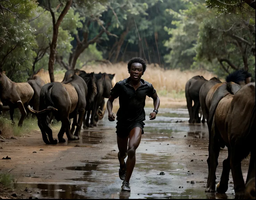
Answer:
[(18, 108), (21, 112), (18, 126), (22, 126), (27, 113), (33, 113), (46, 144), (57, 144), (49, 126), (53, 118), (62, 122), (58, 133), (60, 143), (65, 142), (65, 132), (68, 140), (79, 139), (82, 123), (83, 129), (87, 129), (97, 126), (97, 121), (103, 118), (104, 98), (110, 96), (114, 75), (67, 70), (62, 82), (51, 83), (43, 80), (38, 71), (27, 82), (16, 83), (0, 72), (0, 111), (9, 110), (14, 123), (14, 109)]

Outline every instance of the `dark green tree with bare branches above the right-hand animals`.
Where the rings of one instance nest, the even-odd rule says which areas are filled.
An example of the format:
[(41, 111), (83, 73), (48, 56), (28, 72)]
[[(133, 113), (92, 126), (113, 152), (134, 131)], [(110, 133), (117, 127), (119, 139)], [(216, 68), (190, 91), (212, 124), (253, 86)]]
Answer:
[(217, 59), (226, 73), (229, 73), (229, 68), (239, 69), (241, 63), (248, 70), (251, 52), (255, 56), (255, 20), (244, 19), (245, 16), (241, 14), (218, 14), (212, 11), (200, 26), (197, 60)]

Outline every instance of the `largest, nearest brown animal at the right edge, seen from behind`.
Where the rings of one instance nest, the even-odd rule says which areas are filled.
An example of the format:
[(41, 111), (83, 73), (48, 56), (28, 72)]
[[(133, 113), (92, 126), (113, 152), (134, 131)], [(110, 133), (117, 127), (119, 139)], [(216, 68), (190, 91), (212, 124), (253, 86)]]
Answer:
[[(220, 83), (222, 84), (222, 83)], [(211, 128), (210, 170), (206, 192), (215, 191), (215, 172), (220, 147), (227, 146), (228, 157), (223, 161), (221, 181), (217, 192), (225, 193), (230, 169), (236, 197), (243, 197), (245, 182), (241, 171), (241, 160), (251, 153), (246, 183), (255, 178), (255, 82), (244, 87), (235, 83), (224, 83), (215, 90), (210, 105)], [(238, 91), (237, 91), (238, 90)]]

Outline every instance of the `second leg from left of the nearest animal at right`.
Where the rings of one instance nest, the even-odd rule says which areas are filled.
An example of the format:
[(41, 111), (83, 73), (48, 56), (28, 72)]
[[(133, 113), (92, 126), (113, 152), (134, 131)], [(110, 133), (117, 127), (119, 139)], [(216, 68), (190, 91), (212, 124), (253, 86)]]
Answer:
[(216, 192), (224, 194), (227, 191), (229, 184), (229, 173), (230, 173), (230, 147), (227, 147), (228, 156), (223, 161), (223, 169), (221, 174), (221, 181), (216, 186)]

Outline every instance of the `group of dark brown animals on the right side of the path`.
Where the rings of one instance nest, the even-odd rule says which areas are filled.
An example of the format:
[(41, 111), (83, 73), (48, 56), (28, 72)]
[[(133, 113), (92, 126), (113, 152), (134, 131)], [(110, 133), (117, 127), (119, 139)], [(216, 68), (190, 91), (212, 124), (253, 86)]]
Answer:
[[(209, 157), (205, 191), (215, 192), (216, 187), (217, 192), (225, 193), (231, 169), (236, 197), (255, 199), (255, 82), (251, 82), (251, 74), (244, 70), (235, 71), (226, 78), (226, 82), (215, 77), (207, 81), (202, 76), (195, 76), (187, 81), (185, 93), (189, 123), (201, 123), (199, 107), (202, 122), (207, 120)], [(225, 146), (228, 156), (223, 161), (221, 180), (216, 186), (219, 151)], [(246, 186), (241, 161), (249, 153)]]

